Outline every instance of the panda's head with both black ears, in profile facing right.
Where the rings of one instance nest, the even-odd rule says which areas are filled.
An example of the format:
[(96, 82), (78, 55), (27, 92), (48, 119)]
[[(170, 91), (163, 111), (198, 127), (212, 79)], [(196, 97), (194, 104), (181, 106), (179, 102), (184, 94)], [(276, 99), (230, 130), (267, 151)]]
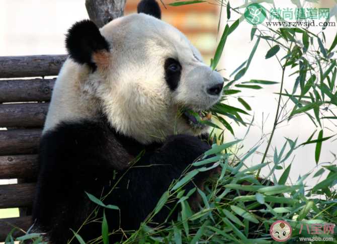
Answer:
[(141, 1), (137, 10), (101, 29), (88, 20), (69, 29), (70, 60), (60, 72), (52, 103), (66, 93), (57, 88), (68, 76), (66, 82), (74, 83), (70, 86), (78, 94), (59, 103), (72, 103), (67, 109), (78, 107), (82, 117), (103, 113), (117, 131), (141, 143), (163, 141), (175, 133), (206, 132), (206, 126), (186, 111), (201, 114), (217, 103), (222, 76), (204, 64), (185, 35), (160, 20), (154, 0)]

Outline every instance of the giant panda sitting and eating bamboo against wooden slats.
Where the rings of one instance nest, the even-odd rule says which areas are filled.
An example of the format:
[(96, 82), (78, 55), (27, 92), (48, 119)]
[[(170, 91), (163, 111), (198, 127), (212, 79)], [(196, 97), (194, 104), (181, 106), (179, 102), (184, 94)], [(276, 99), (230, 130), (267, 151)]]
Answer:
[[(34, 229), (50, 243), (66, 243), (71, 229), (86, 241), (101, 235), (101, 221), (81, 226), (98, 206), (86, 192), (109, 193), (103, 202), (119, 207), (104, 209), (110, 232), (137, 229), (170, 184), (210, 149), (202, 139), (207, 126), (186, 111), (202, 114), (216, 104), (223, 78), (160, 16), (155, 0), (142, 0), (137, 14), (101, 29), (80, 21), (66, 35), (69, 57), (43, 129), (33, 206)], [(211, 174), (199, 173), (185, 189), (202, 187)], [(170, 207), (153, 222), (162, 223)], [(111, 242), (121, 238), (110, 235)]]

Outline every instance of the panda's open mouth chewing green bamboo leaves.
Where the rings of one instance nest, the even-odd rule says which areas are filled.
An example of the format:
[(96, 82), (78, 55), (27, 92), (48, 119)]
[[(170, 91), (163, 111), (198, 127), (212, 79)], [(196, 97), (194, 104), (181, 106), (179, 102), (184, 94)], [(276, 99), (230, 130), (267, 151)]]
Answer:
[(183, 112), (183, 117), (193, 129), (204, 129), (211, 120), (212, 113), (206, 110), (194, 111), (186, 109)]

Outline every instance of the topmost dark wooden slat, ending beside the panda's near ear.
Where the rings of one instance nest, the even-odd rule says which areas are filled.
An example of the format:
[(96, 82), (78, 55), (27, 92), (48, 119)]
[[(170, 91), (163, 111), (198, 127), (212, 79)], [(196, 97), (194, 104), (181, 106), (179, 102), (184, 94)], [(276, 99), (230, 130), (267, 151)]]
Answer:
[(0, 78), (57, 75), (67, 55), (0, 57)]

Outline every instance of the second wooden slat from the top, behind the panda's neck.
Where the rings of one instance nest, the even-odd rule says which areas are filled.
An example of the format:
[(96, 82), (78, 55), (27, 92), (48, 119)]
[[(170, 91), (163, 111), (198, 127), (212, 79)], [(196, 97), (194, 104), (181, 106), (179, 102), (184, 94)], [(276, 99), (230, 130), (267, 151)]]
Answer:
[(50, 101), (54, 79), (0, 80), (0, 103)]

